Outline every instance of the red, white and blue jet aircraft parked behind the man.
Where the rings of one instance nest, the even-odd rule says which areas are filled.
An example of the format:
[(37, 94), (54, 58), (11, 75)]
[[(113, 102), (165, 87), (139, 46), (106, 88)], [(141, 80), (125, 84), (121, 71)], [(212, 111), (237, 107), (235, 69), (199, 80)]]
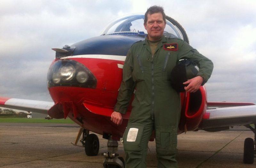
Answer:
[[(0, 106), (48, 113), (52, 118), (71, 118), (81, 126), (75, 145), (82, 134), (80, 141), (85, 153), (98, 155), (99, 139), (89, 131), (101, 134), (108, 139), (103, 166), (123, 168), (124, 159), (117, 157), (116, 153), (117, 141), (123, 137), (131, 104), (123, 115), (122, 125), (115, 125), (110, 116), (122, 80), (125, 56), (134, 42), (144, 40), (147, 35), (143, 22), (144, 14), (126, 15), (112, 21), (98, 37), (52, 49), (56, 51), (56, 57), (49, 68), (47, 83), (53, 102), (0, 97)], [(183, 27), (168, 16), (164, 35), (189, 43)], [(181, 93), (180, 97), (182, 108), (178, 134), (198, 129), (222, 131), (229, 126), (244, 125), (256, 138), (256, 129), (251, 126), (256, 123), (254, 103), (207, 102), (204, 86), (196, 93)], [(151, 141), (154, 138), (153, 135)], [(255, 138), (244, 141), (244, 163), (254, 162)]]

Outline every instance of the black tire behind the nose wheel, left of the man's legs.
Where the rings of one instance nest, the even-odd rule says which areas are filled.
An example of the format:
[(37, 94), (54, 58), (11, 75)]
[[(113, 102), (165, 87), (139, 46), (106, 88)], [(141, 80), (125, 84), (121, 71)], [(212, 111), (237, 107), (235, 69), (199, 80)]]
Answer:
[(100, 149), (100, 142), (98, 136), (95, 134), (87, 135), (84, 149), (87, 156), (98, 155)]

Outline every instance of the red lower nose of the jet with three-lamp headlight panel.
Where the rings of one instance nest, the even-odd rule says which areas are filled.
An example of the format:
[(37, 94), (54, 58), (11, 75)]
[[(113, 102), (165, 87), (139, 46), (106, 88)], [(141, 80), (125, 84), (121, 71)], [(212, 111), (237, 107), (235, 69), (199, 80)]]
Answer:
[[(53, 118), (68, 116), (88, 129), (95, 126), (90, 130), (99, 134), (102, 130), (112, 132), (116, 126), (110, 115), (116, 104), (124, 61), (88, 55), (71, 57), (55, 59), (48, 71), (48, 90), (55, 103), (48, 114)], [(122, 131), (116, 130), (115, 134), (122, 135)]]

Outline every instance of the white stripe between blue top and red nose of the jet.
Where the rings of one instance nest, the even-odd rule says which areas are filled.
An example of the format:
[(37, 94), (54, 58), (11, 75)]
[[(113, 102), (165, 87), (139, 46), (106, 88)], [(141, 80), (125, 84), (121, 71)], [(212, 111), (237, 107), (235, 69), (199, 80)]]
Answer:
[(88, 55), (61, 57), (60, 59), (67, 59), (67, 58), (98, 58), (98, 59), (111, 59), (116, 61), (125, 61), (126, 56), (88, 54)]

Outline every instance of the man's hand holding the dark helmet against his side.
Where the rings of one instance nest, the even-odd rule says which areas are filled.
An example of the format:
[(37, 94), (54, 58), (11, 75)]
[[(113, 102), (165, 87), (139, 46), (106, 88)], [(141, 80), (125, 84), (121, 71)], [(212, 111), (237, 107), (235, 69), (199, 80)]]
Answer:
[(188, 84), (188, 86), (185, 86), (184, 89), (186, 90), (186, 92), (194, 93), (200, 88), (203, 81), (203, 77), (196, 76), (195, 78), (189, 79), (188, 81), (183, 83), (185, 85)]

